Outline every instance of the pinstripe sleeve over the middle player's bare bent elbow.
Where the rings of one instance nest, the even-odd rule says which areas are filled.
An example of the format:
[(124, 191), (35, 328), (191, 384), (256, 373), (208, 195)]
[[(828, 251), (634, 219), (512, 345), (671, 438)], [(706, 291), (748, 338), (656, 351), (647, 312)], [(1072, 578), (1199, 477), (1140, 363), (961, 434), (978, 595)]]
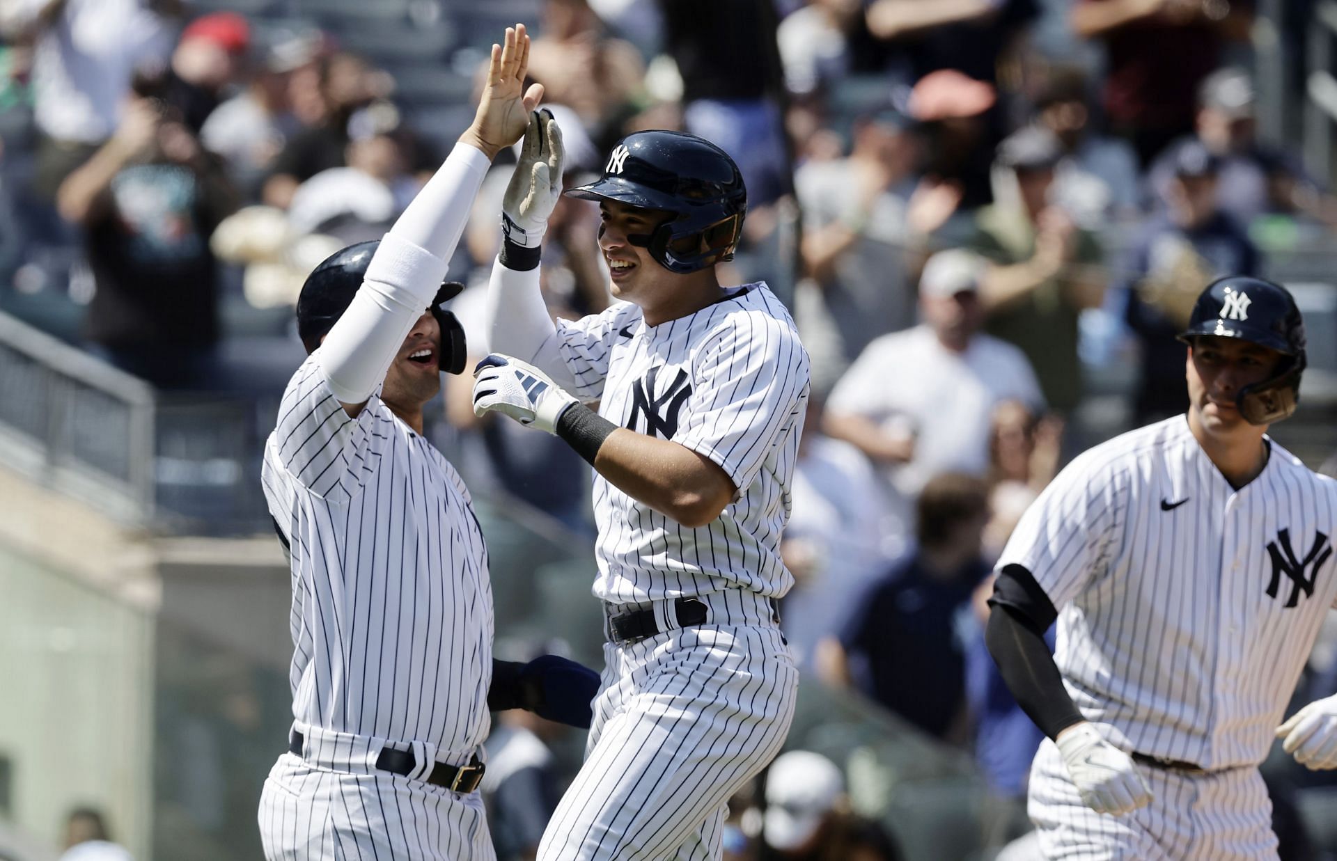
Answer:
[(742, 492), (783, 432), (802, 428), (808, 381), (808, 353), (787, 321), (730, 314), (694, 361), (687, 418), (674, 443), (719, 464)]

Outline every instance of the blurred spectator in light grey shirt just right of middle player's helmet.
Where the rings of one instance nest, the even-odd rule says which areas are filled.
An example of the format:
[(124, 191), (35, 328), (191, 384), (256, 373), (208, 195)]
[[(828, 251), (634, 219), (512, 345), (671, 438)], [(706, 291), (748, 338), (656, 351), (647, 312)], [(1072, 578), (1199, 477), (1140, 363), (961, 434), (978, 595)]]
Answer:
[(908, 119), (892, 111), (860, 116), (852, 136), (848, 158), (806, 162), (794, 175), (804, 266), (821, 286), (846, 361), (915, 322), (902, 241), (919, 160)]

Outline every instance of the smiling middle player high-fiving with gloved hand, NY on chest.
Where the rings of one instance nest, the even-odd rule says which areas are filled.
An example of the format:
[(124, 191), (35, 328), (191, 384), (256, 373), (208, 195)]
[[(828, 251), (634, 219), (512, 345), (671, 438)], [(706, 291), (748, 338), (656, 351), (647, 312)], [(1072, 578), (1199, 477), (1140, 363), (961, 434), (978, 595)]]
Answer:
[[(596, 182), (619, 302), (556, 324), (539, 241), (560, 132), (536, 116), (505, 194), (475, 412), (556, 433), (594, 465), (607, 667), (584, 766), (539, 858), (719, 858), (726, 801), (783, 742), (798, 672), (777, 624), (808, 356), (763, 283), (722, 287), (746, 209), (701, 138), (622, 139)], [(599, 401), (598, 412), (582, 401)]]

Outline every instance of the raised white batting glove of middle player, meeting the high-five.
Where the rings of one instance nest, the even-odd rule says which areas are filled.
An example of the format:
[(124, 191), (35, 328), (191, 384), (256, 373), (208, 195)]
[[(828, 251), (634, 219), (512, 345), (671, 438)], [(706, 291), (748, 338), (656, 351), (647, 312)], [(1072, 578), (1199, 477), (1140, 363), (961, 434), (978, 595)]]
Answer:
[(562, 198), (562, 130), (548, 111), (533, 111), (520, 143), (520, 160), (501, 199), (501, 229), (507, 239), (539, 247), (548, 215)]

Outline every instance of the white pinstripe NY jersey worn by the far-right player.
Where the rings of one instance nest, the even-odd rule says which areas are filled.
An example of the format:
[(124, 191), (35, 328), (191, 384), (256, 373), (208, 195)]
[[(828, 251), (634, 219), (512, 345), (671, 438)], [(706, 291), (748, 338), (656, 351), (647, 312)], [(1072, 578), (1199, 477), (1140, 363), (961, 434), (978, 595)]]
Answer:
[(1337, 481), (1267, 445), (1237, 491), (1185, 416), (1124, 433), (1046, 488), (999, 560), (1059, 610), (1067, 690), (1124, 750), (1205, 769), (1267, 755), (1337, 598)]

